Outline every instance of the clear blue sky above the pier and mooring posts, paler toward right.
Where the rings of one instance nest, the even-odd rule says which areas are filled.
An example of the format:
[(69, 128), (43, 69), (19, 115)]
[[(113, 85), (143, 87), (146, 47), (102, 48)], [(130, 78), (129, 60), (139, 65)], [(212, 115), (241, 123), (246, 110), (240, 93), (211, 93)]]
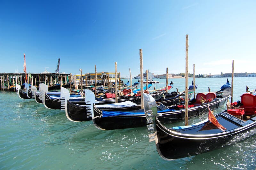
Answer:
[(256, 72), (256, 1), (0, 1), (0, 73)]

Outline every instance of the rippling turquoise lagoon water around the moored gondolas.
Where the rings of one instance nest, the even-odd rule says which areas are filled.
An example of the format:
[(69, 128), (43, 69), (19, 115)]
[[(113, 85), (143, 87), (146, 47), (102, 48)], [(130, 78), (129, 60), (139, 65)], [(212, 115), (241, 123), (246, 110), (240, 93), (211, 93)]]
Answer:
[[(133, 80), (134, 81), (134, 80)], [(165, 86), (162, 83), (153, 86)], [(185, 89), (185, 79), (172, 79), (173, 90)], [(231, 78), (229, 78), (231, 83)], [(189, 79), (191, 84), (192, 79)], [(197, 78), (197, 92), (217, 91), (226, 78)], [(256, 78), (234, 78), (234, 100)], [(218, 111), (223, 110), (223, 108)], [(215, 111), (214, 113), (217, 113)], [(64, 111), (49, 110), (14, 92), (0, 92), (0, 169), (255, 169), (256, 135), (208, 153), (165, 161), (147, 128), (102, 131), (92, 121), (71, 122)], [(204, 120), (207, 115), (189, 120)], [(173, 126), (184, 125), (184, 121)]]

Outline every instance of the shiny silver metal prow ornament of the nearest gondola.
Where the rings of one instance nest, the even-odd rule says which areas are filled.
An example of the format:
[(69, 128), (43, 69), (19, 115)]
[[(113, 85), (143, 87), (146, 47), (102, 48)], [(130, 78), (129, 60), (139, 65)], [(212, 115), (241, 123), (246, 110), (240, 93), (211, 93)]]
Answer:
[(147, 93), (143, 94), (144, 97), (144, 112), (147, 118), (147, 128), (149, 142), (157, 142), (156, 134), (156, 116), (157, 116), (157, 106), (155, 99)]

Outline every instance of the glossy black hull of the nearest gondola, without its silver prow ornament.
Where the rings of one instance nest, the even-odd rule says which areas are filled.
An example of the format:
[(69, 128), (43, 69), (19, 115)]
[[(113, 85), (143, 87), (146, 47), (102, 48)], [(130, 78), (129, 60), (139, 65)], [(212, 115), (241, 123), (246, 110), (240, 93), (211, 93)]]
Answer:
[(187, 132), (184, 132), (184, 129), (184, 134), (180, 134), (165, 128), (156, 118), (156, 149), (159, 155), (165, 160), (193, 156), (233, 144), (256, 132), (256, 117), (249, 120), (250, 124), (226, 112), (220, 113), (216, 118), (220, 124), (228, 129), (227, 131), (222, 132), (216, 127), (204, 130), (204, 126), (212, 125), (206, 122), (200, 126), (188, 128)]

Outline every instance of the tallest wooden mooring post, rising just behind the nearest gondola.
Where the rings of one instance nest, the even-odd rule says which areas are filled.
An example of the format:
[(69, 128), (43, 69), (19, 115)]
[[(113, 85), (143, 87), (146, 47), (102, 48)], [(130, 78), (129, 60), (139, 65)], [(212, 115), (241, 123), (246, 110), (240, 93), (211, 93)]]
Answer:
[(188, 35), (186, 35), (185, 126), (188, 126)]

